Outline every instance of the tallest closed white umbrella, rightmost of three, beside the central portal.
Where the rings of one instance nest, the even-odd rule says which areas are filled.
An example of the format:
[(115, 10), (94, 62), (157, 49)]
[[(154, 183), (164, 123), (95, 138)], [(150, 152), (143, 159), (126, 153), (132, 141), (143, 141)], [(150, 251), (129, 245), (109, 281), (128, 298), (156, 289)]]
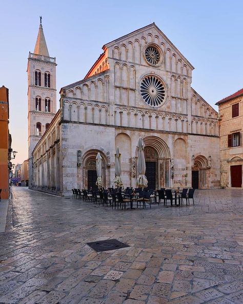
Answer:
[(146, 163), (144, 157), (144, 141), (139, 137), (137, 145), (137, 174), (136, 186), (141, 188), (146, 188), (148, 186), (148, 180), (145, 176), (146, 172)]

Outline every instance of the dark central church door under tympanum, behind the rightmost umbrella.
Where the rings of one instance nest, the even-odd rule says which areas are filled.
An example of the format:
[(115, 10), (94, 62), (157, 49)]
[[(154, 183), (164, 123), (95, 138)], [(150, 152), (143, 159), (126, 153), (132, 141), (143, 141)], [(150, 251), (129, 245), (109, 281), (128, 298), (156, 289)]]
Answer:
[(146, 162), (146, 177), (148, 180), (148, 187), (156, 189), (158, 187), (158, 154), (153, 147), (146, 146), (144, 149)]

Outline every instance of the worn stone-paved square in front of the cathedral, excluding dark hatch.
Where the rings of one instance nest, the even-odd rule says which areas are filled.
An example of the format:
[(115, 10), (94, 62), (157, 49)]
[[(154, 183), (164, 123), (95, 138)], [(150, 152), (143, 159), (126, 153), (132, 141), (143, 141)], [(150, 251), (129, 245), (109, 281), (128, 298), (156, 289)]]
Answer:
[[(195, 197), (195, 206), (117, 211), (13, 188), (0, 303), (242, 304), (243, 191)], [(130, 247), (86, 244), (109, 238)]]

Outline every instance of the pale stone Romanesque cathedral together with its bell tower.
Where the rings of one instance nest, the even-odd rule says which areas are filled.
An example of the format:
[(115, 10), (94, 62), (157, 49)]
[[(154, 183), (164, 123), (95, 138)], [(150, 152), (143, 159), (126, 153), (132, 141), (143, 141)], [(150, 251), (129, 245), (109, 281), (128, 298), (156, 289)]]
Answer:
[(98, 152), (110, 187), (117, 146), (124, 187), (135, 187), (139, 137), (149, 188), (219, 187), (217, 112), (191, 87), (194, 67), (154, 23), (105, 44), (85, 78), (60, 89), (55, 116), (55, 59), (41, 52), (30, 53), (28, 68), (29, 129), (38, 140), (32, 188), (69, 196), (94, 187)]

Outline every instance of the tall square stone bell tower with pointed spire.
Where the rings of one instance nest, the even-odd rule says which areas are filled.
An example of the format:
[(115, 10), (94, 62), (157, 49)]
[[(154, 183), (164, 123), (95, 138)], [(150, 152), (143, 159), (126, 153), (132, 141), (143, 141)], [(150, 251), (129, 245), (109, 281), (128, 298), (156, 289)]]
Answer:
[(28, 58), (28, 174), (32, 187), (32, 151), (56, 114), (56, 58), (50, 57), (42, 17), (34, 52)]

